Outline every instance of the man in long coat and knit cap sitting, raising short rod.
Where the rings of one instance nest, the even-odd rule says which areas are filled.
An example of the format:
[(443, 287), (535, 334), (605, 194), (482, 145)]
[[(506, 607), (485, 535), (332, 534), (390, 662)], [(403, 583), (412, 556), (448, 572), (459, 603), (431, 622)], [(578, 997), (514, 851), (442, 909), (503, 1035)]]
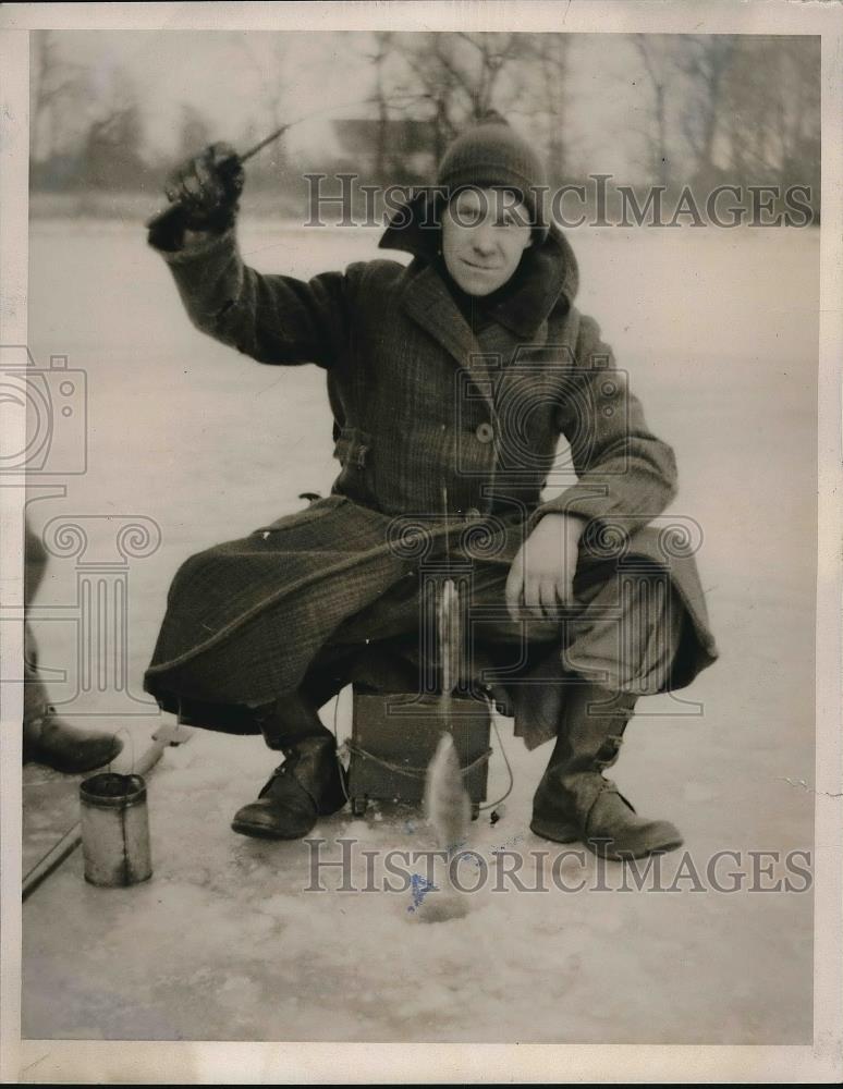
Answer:
[[(437, 195), (416, 195), (381, 238), (410, 266), (304, 282), (244, 266), (232, 154), (215, 145), (173, 175), (183, 215), (149, 242), (198, 329), (260, 363), (326, 369), (342, 466), (329, 497), (192, 556), (170, 589), (147, 690), (285, 757), (234, 830), (307, 835), (345, 802), (318, 709), (352, 680), (417, 685), (405, 518), (430, 527), (428, 560), (471, 561), (473, 669), (497, 669), (494, 698), (530, 748), (555, 741), (532, 830), (612, 858), (679, 846), (602, 771), (637, 697), (683, 687), (717, 651), (693, 556), (668, 561), (647, 528), (675, 494), (673, 453), (574, 306), (540, 160), (501, 119), (474, 127)], [(577, 481), (541, 503), (560, 435)]]

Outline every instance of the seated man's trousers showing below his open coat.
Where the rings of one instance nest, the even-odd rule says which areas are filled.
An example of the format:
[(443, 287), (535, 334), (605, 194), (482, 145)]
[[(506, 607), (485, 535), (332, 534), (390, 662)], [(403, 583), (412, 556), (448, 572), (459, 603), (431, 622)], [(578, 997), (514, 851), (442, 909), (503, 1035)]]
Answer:
[[(652, 566), (606, 565), (575, 583), (576, 604), (557, 620), (513, 621), (505, 608), (506, 570), (475, 567), (465, 584), (464, 677), (481, 681), (516, 719), (533, 748), (555, 736), (565, 690), (589, 681), (611, 693), (653, 695), (669, 687), (684, 607)], [(432, 598), (432, 594), (430, 597)], [(424, 598), (424, 595), (423, 595)], [(352, 681), (379, 690), (414, 692), (430, 677), (436, 646), (431, 609), (417, 584), (398, 587), (345, 621), (313, 662), (296, 693), (278, 701), (278, 729), (304, 719)]]

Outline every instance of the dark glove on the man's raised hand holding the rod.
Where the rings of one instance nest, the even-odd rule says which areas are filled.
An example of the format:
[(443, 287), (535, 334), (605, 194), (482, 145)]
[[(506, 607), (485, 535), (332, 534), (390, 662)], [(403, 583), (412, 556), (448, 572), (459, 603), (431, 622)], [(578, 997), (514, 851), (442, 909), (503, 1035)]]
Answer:
[(222, 234), (233, 227), (243, 192), (243, 164), (230, 144), (211, 144), (170, 174), (168, 200), (180, 205), (182, 225)]

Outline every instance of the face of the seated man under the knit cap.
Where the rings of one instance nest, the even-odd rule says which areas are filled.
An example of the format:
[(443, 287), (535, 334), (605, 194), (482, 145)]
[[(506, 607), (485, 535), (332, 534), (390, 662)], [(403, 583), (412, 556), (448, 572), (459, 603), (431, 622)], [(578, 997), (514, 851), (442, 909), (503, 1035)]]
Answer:
[(463, 189), (442, 220), (445, 268), (468, 295), (503, 286), (529, 242), (529, 212), (503, 189)]

